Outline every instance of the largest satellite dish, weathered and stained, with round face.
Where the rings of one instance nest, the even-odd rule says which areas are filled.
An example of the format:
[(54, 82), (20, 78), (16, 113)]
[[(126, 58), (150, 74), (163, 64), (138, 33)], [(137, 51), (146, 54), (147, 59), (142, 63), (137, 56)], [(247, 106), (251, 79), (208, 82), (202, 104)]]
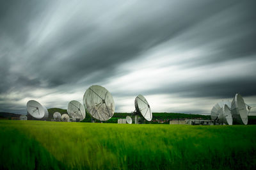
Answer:
[(115, 102), (109, 91), (102, 86), (93, 85), (84, 93), (84, 107), (95, 119), (109, 120), (115, 112)]

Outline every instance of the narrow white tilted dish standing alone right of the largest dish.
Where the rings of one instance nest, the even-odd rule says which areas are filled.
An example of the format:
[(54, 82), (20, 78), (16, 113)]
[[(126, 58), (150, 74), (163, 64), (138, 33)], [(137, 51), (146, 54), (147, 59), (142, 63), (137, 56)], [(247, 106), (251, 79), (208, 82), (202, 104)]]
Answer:
[(143, 116), (147, 121), (152, 120), (150, 105), (143, 95), (138, 95), (138, 97), (135, 98), (135, 109), (136, 112), (141, 114), (141, 116)]

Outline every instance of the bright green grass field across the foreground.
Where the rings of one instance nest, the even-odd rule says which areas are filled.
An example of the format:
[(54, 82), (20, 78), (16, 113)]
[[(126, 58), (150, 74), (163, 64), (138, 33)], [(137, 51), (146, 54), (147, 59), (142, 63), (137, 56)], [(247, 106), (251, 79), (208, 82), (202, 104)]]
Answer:
[(255, 169), (256, 126), (0, 121), (0, 169)]

